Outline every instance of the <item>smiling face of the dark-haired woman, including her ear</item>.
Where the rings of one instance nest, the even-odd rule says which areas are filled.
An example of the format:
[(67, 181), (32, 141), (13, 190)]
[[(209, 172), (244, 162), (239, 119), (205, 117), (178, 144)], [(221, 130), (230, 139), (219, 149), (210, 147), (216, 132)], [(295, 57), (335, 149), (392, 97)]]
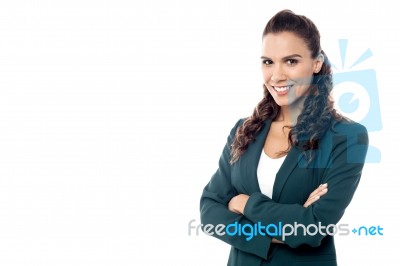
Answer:
[(303, 39), (291, 32), (268, 33), (262, 42), (264, 85), (279, 106), (302, 101), (310, 88), (313, 73), (322, 67), (323, 58), (311, 57)]

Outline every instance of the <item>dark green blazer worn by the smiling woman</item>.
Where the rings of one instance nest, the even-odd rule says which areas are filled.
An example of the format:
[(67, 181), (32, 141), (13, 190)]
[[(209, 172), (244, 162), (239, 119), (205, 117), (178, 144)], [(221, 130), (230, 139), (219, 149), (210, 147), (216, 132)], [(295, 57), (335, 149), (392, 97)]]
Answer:
[[(272, 199), (260, 192), (257, 165), (271, 121), (267, 120), (246, 152), (231, 165), (230, 145), (239, 120), (228, 137), (219, 160), (219, 168), (205, 186), (200, 200), (201, 223), (262, 225), (336, 224), (344, 214), (358, 186), (368, 148), (364, 126), (342, 121), (328, 129), (307, 164), (304, 153), (292, 147), (278, 171)], [(319, 185), (328, 183), (328, 192), (308, 208), (308, 196)], [(250, 195), (244, 214), (230, 212), (227, 204), (238, 194)], [(350, 230), (350, 228), (349, 228)], [(232, 232), (232, 231), (231, 231)], [(271, 236), (218, 235), (214, 237), (231, 245), (228, 265), (337, 265), (334, 238), (329, 234), (287, 236), (285, 244), (271, 243)], [(208, 232), (209, 233), (209, 232)], [(280, 236), (274, 238), (282, 240)]]

